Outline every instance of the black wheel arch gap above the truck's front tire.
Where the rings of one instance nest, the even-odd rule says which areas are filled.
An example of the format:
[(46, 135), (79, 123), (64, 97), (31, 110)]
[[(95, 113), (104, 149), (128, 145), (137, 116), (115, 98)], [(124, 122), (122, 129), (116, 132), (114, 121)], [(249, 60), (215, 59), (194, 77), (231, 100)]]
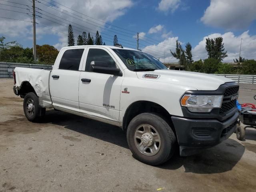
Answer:
[(138, 114), (145, 113), (145, 112), (151, 112), (161, 116), (170, 125), (170, 127), (175, 133), (175, 129), (171, 120), (172, 115), (169, 114), (169, 112), (163, 106), (155, 102), (146, 101), (146, 100), (136, 101), (130, 104), (130, 106), (128, 106), (123, 117), (122, 129), (126, 131), (130, 121)]

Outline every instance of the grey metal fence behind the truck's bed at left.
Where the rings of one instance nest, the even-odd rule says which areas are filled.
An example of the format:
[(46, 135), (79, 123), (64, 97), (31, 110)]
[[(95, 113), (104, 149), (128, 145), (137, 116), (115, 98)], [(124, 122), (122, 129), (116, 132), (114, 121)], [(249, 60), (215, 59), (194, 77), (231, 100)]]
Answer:
[(0, 62), (0, 78), (4, 78), (4, 77), (12, 78), (12, 71), (14, 70), (15, 67), (52, 69), (52, 65), (45, 65), (45, 64)]

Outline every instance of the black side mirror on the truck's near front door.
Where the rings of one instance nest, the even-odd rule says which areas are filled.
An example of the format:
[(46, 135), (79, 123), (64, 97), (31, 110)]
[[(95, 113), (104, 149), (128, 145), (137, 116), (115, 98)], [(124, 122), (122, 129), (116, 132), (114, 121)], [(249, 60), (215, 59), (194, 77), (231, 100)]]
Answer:
[(92, 61), (90, 63), (90, 66), (92, 68), (92, 71), (96, 72), (96, 73), (110, 74), (110, 75), (116, 75), (116, 76), (123, 75), (122, 72), (120, 71), (120, 69), (108, 67), (107, 62)]

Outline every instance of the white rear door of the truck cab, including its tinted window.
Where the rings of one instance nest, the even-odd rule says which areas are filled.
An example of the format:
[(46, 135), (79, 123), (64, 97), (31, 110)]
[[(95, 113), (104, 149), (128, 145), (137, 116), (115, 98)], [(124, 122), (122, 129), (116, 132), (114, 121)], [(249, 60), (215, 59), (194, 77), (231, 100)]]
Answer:
[(50, 75), (53, 106), (79, 111), (78, 85), (84, 58), (84, 48), (61, 50)]

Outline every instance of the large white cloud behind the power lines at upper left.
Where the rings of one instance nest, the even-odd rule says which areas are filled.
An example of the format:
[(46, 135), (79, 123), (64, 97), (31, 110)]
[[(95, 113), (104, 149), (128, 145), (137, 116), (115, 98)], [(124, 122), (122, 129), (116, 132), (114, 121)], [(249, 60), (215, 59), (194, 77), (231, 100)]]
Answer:
[[(52, 3), (51, 0), (47, 0), (47, 1)], [(59, 4), (56, 4), (56, 5), (63, 8), (64, 10), (68, 10), (68, 12), (72, 12), (76, 15), (73, 15), (73, 14), (63, 11), (63, 10), (60, 10), (54, 6), (44, 6), (43, 4), (36, 2), (36, 7), (42, 9), (42, 11), (41, 10), (40, 11), (38, 10), (38, 11), (44, 15), (41, 15), (39, 13), (37, 13), (37, 14), (39, 16), (42, 16), (42, 17), (48, 19), (48, 20), (45, 20), (43, 18), (36, 18), (36, 22), (39, 24), (42, 24), (44, 26), (48, 26), (49, 28), (53, 28), (53, 30), (52, 30), (49, 28), (45, 28), (42, 25), (36, 25), (37, 38), (38, 39), (42, 38), (47, 34), (49, 34), (49, 35), (55, 34), (55, 35), (57, 35), (58, 41), (56, 43), (56, 40), (55, 40), (52, 44), (55, 44), (55, 46), (57, 46), (57, 48), (60, 48), (61, 46), (66, 46), (66, 44), (67, 44), (67, 31), (68, 31), (67, 26), (69, 23), (72, 24), (72, 26), (73, 26), (75, 41), (76, 41), (78, 34), (81, 34), (82, 31), (86, 31), (87, 33), (90, 32), (90, 34), (92, 36), (95, 36), (96, 30), (98, 30), (99, 32), (101, 32), (103, 30), (102, 28), (99, 27), (101, 25), (103, 25), (101, 27), (104, 27), (103, 22), (112, 22), (116, 18), (124, 15), (126, 12), (126, 9), (130, 8), (133, 5), (132, 0), (93, 0), (93, 1), (92, 0), (88, 0), (88, 1), (56, 0), (56, 1), (60, 2), (61, 4), (71, 8), (73, 10), (77, 10), (80, 13), (84, 13), (86, 15), (89, 15), (92, 18), (97, 19), (97, 20), (94, 20), (92, 18), (88, 18), (82, 14), (73, 12), (72, 10), (68, 10), (68, 8), (64, 8), (64, 7), (60, 6)], [(20, 4), (30, 5), (30, 2), (27, 0), (19, 0), (18, 2)], [(47, 4), (46, 2), (42, 2), (42, 3)], [(12, 4), (10, 2), (5, 2), (4, 4), (9, 4), (12, 6), (16, 5), (16, 4)], [(47, 5), (49, 5), (49, 4), (47, 4)], [(27, 13), (31, 14), (28, 10), (26, 10), (26, 8), (28, 8), (28, 7), (21, 6), (21, 5), (20, 5), (20, 7), (24, 7), (25, 9), (19, 9), (19, 8), (14, 8), (14, 7), (3, 5), (3, 8), (5, 8), (5, 9), (20, 11), (20, 12), (27, 12)], [(54, 9), (60, 10), (60, 12), (53, 10), (51, 7)], [(48, 14), (44, 11), (54, 14), (55, 16), (58, 16), (60, 18), (54, 17), (51, 14)], [(16, 19), (20, 19), (20, 20), (29, 20), (29, 21), (32, 20), (31, 16), (29, 16), (27, 14), (10, 12), (10, 11), (6, 11), (6, 10), (1, 10), (0, 16), (16, 18)], [(52, 18), (49, 18), (48, 16), (50, 16)], [(56, 18), (60, 21), (54, 20), (53, 18)], [(79, 18), (80, 20), (77, 18)], [(86, 18), (86, 19), (83, 19), (83, 18)], [(49, 20), (52, 20), (57, 23), (61, 23), (64, 26), (54, 23), (54, 22), (51, 22)], [(89, 20), (93, 21), (94, 23)], [(98, 20), (101, 20), (103, 22), (100, 22)], [(0, 26), (1, 26), (0, 27), (0, 35), (6, 36), (6, 37), (12, 37), (12, 39), (14, 39), (14, 40), (16, 40), (17, 38), (21, 38), (21, 37), (23, 39), (31, 40), (32, 23), (30, 23), (30, 22), (22, 22), (22, 21), (18, 21), (18, 20), (10, 20), (10, 19), (1, 18)], [(109, 32), (108, 32), (108, 34), (109, 34)], [(113, 36), (114, 36), (114, 34), (113, 34)], [(16, 38), (13, 38), (13, 37), (16, 37)], [(102, 34), (103, 40), (107, 41), (107, 39), (104, 37), (105, 36)], [(111, 43), (112, 43), (112, 40), (109, 40), (109, 41), (111, 41)], [(31, 42), (31, 44), (32, 44), (32, 42)]]

